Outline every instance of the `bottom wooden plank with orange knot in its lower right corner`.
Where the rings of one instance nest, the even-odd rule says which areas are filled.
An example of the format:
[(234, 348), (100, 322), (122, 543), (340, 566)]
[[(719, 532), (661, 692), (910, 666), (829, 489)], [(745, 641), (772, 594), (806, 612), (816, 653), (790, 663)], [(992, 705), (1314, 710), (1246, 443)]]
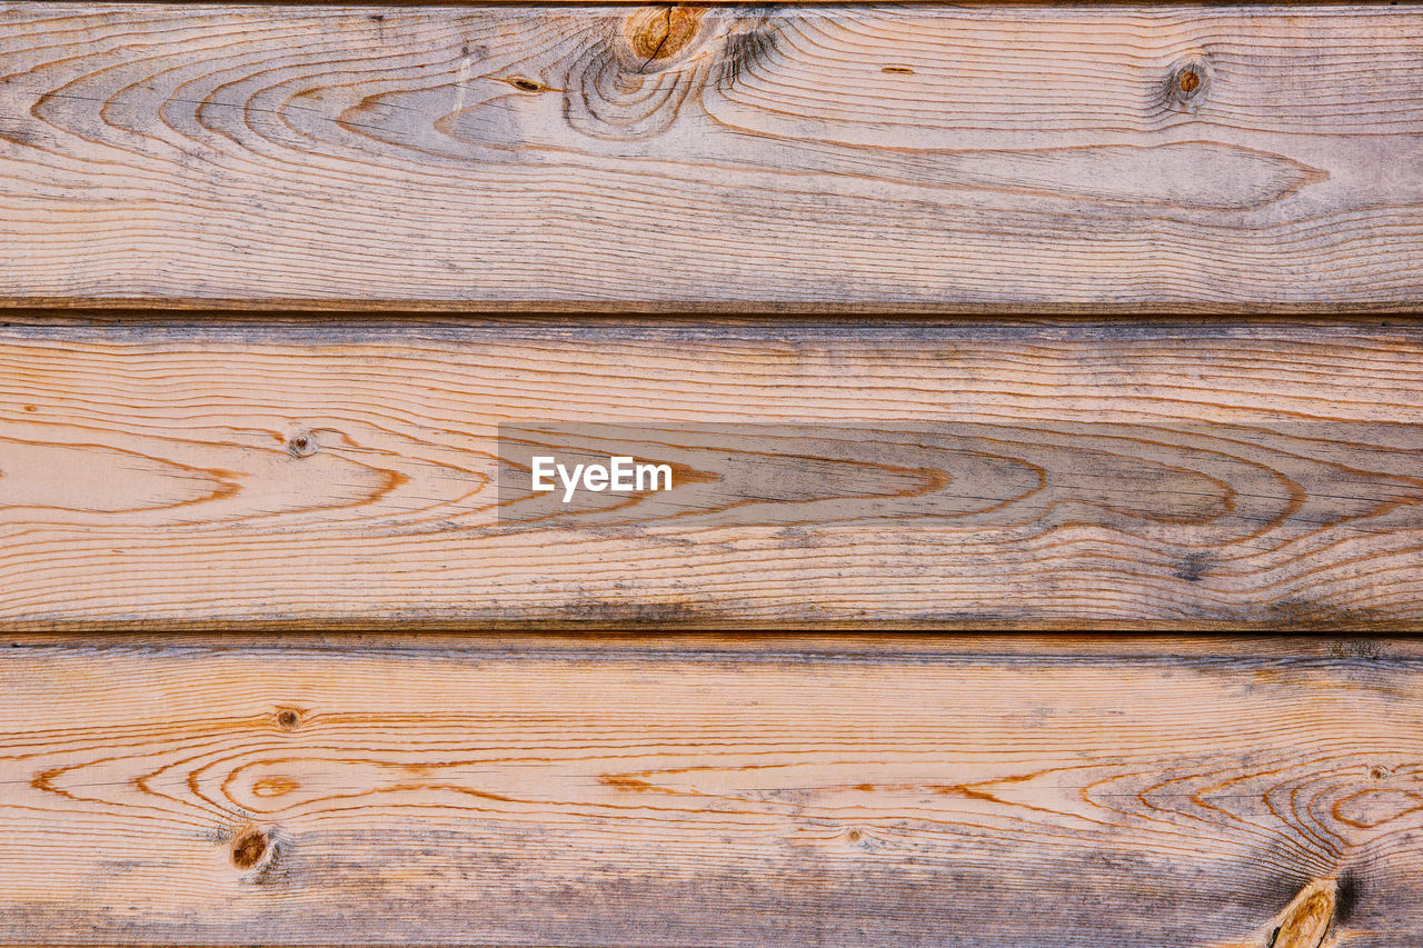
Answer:
[(1423, 939), (1412, 646), (924, 642), (14, 641), (0, 939)]

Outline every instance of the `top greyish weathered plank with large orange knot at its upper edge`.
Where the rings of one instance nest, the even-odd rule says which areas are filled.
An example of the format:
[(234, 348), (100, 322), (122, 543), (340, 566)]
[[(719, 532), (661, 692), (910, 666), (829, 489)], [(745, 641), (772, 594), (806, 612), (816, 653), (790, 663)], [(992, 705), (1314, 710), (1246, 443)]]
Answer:
[(0, 300), (1423, 299), (1423, 7), (0, 4)]

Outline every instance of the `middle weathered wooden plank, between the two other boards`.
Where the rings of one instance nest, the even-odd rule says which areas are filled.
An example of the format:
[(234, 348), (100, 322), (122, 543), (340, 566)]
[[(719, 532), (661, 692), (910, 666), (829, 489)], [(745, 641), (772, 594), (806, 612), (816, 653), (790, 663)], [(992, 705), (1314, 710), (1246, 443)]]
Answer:
[[(501, 518), (535, 421), (702, 474)], [(1416, 629), (1420, 426), (1419, 320), (14, 320), (0, 623)]]

